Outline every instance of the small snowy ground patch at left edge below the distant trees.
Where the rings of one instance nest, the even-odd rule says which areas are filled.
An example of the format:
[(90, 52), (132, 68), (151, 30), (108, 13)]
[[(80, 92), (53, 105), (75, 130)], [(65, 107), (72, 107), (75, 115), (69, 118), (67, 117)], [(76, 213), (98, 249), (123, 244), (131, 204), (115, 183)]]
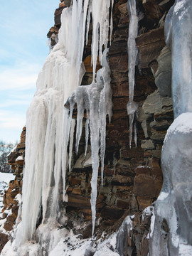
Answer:
[(4, 191), (9, 187), (9, 181), (14, 180), (13, 174), (5, 174), (0, 172), (0, 212), (3, 206)]

